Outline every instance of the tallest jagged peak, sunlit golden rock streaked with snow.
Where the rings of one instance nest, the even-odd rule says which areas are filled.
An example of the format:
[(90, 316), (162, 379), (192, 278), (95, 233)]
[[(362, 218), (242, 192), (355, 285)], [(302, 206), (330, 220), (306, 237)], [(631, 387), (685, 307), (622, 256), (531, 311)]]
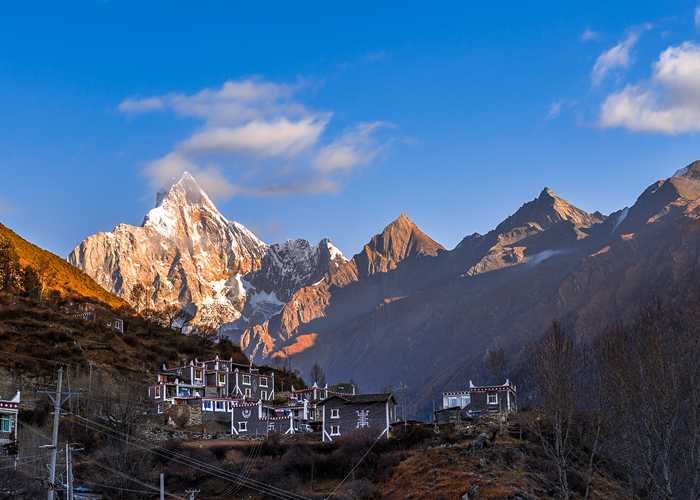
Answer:
[(267, 251), (184, 173), (158, 196), (140, 227), (119, 224), (92, 235), (68, 260), (127, 301), (142, 285), (148, 294), (132, 304), (138, 309), (174, 305), (193, 316), (192, 324), (219, 326), (240, 318), (247, 300), (242, 276), (259, 269)]

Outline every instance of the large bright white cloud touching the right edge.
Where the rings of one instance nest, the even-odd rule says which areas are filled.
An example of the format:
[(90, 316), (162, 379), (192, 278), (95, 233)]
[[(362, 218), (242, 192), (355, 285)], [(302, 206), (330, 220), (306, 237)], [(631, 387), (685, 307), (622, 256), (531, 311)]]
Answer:
[(650, 81), (605, 99), (600, 125), (668, 134), (700, 131), (700, 46), (685, 42), (664, 50)]

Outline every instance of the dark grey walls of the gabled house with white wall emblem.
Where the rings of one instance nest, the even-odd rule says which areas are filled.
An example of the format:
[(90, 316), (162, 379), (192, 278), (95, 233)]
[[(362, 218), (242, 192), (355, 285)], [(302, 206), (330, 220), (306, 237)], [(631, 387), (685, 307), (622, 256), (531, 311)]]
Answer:
[[(369, 435), (377, 437), (387, 427), (387, 405), (389, 407), (389, 424), (391, 424), (396, 415), (394, 404), (389, 402), (379, 403), (348, 403), (342, 399), (331, 399), (321, 405), (323, 435), (324, 441), (329, 438), (337, 440), (348, 437), (358, 437)], [(332, 410), (339, 411), (338, 418), (331, 418)], [(363, 413), (361, 417), (358, 412)], [(392, 417), (392, 415), (394, 417)], [(366, 427), (361, 427), (361, 424), (366, 418)], [(332, 435), (332, 426), (338, 426), (340, 435)]]

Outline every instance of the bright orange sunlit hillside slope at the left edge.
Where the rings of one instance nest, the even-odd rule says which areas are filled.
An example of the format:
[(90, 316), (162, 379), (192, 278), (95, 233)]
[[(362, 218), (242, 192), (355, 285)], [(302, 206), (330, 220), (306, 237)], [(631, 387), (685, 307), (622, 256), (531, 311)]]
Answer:
[(12, 243), (22, 267), (31, 266), (39, 273), (45, 289), (64, 297), (93, 300), (113, 308), (128, 307), (126, 302), (109, 293), (84, 272), (28, 242), (3, 224), (0, 224), (0, 237)]

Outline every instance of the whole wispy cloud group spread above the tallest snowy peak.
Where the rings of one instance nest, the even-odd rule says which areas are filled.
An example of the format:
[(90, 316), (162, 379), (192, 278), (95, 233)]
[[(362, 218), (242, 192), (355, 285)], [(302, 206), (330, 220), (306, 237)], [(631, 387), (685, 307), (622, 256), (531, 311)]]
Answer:
[(144, 173), (156, 189), (190, 171), (215, 197), (334, 192), (342, 187), (343, 173), (372, 162), (386, 146), (377, 134), (387, 124), (360, 123), (326, 138), (333, 113), (300, 101), (312, 85), (249, 78), (193, 94), (130, 97), (117, 109), (202, 121), (169, 153), (148, 163)]

